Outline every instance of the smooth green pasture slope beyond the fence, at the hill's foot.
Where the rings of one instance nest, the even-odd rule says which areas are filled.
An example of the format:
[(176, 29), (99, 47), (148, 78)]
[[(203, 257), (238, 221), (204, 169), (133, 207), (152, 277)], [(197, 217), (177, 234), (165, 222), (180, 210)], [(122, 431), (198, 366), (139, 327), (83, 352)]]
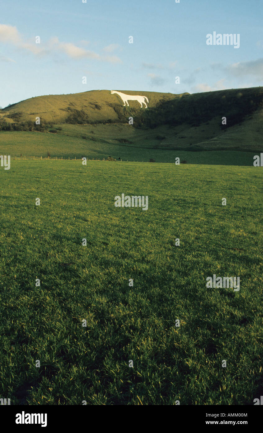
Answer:
[[(61, 125), (63, 131), (53, 134), (44, 132), (4, 131), (0, 132), (0, 155), (20, 157), (61, 157), (77, 159), (88, 158), (120, 158), (123, 161), (149, 162), (153, 158), (156, 162), (174, 163), (179, 157), (190, 164), (209, 165), (250, 165), (253, 166), (253, 156), (260, 152), (244, 152), (237, 150), (203, 150), (190, 152), (163, 148), (160, 140), (155, 139), (160, 129), (138, 130), (120, 125)], [(108, 129), (108, 128), (109, 129)], [(164, 130), (161, 128), (161, 132)], [(170, 131), (171, 134), (171, 131)], [(87, 139), (83, 139), (86, 136)], [(113, 137), (113, 138), (109, 138)], [(129, 143), (120, 143), (121, 139)], [(157, 143), (157, 144), (156, 144)], [(156, 146), (159, 145), (159, 148)], [(253, 147), (253, 146), (251, 146)], [(226, 147), (227, 148), (227, 147)], [(215, 149), (218, 149), (215, 146)]]

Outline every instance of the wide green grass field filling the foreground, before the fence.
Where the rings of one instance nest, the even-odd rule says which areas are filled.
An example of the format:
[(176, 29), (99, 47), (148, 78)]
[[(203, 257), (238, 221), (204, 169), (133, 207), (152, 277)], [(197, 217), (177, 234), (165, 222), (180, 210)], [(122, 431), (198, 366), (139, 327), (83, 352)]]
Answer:
[[(38, 146), (58, 139), (15, 134), (37, 134)], [(6, 141), (0, 149), (13, 154)], [(117, 150), (126, 158), (127, 149)], [(0, 168), (1, 396), (246, 405), (262, 395), (263, 171), (209, 161), (12, 159)], [(149, 209), (116, 208), (122, 193), (149, 196)], [(240, 291), (206, 288), (213, 274), (239, 276)]]

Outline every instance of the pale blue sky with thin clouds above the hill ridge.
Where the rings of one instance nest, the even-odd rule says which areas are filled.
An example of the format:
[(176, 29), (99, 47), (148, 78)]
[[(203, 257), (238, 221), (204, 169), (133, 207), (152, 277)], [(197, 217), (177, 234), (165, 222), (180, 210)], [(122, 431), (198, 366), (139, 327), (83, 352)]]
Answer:
[[(94, 89), (260, 86), (262, 19), (262, 0), (0, 0), (0, 106)], [(240, 48), (206, 45), (213, 31), (239, 33)]]

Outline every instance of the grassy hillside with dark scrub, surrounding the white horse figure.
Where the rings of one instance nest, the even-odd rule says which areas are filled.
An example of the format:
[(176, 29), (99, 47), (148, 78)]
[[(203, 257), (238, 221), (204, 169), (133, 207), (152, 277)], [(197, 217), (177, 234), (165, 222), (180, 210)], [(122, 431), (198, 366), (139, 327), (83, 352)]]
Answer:
[[(171, 151), (193, 152), (187, 161), (195, 160), (199, 151), (263, 151), (263, 87), (192, 95), (122, 91), (147, 96), (148, 109), (139, 108), (136, 101), (124, 107), (110, 90), (35, 97), (6, 107), (0, 110), (0, 129), (18, 131), (1, 132), (0, 152), (101, 158), (114, 154), (129, 160), (171, 162)], [(40, 126), (35, 125), (36, 116), (41, 118)], [(246, 158), (236, 155), (229, 163), (234, 164), (234, 159)], [(212, 163), (205, 155), (201, 162)], [(245, 165), (251, 165), (250, 159)]]

